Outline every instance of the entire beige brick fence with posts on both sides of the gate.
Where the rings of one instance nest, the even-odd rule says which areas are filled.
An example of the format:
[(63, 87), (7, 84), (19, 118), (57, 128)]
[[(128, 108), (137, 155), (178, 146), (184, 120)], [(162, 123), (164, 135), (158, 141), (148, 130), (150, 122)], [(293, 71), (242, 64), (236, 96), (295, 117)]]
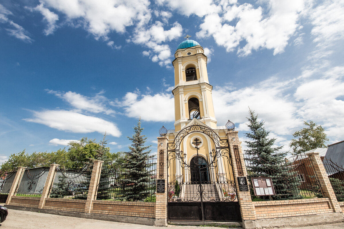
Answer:
[[(236, 176), (239, 174), (238, 166), (241, 163), (243, 175), (246, 175), (245, 163), (241, 157), (240, 141), (228, 134), (228, 139), (231, 140), (230, 146), (239, 147), (239, 156), (234, 155), (233, 170)], [(162, 157), (158, 156), (157, 177), (167, 180), (166, 168), (166, 143), (165, 137), (158, 138), (159, 153), (163, 153)], [(314, 225), (316, 220), (324, 220), (331, 218), (333, 221), (343, 220), (344, 202), (337, 202), (336, 196), (332, 189), (331, 183), (327, 177), (326, 171), (323, 168), (319, 154), (313, 153), (309, 155), (313, 161), (313, 169), (318, 174), (320, 186), (323, 193), (323, 198), (312, 199), (296, 199), (284, 201), (262, 201), (252, 202), (249, 192), (238, 192), (238, 199), (241, 208), (241, 217), (243, 219), (243, 227), (245, 229), (263, 228), (264, 224), (269, 224), (270, 228), (283, 227), (285, 225), (292, 225), (293, 222), (302, 221), (304, 224)], [(160, 161), (162, 160), (162, 161)], [(26, 207), (35, 209), (44, 209), (54, 211), (54, 214), (61, 214), (63, 212), (85, 214), (87, 217), (94, 218), (96, 215), (107, 216), (107, 218), (99, 218), (106, 220), (131, 222), (138, 224), (147, 224), (155, 226), (167, 225), (167, 194), (157, 193), (157, 202), (126, 202), (126, 201), (103, 201), (97, 200), (96, 186), (100, 177), (100, 169), (102, 161), (95, 161), (95, 168), (92, 172), (91, 181), (92, 189), (89, 190), (87, 199), (68, 199), (68, 198), (49, 198), (49, 188), (54, 180), (54, 170), (56, 164), (51, 165), (53, 168), (49, 171), (47, 181), (45, 183), (44, 192), (41, 197), (27, 197), (16, 196), (15, 189), (20, 185), (21, 177), (25, 168), (20, 168), (15, 175), (14, 182), (11, 186), (6, 206), (12, 207)], [(160, 174), (163, 173), (163, 174)], [(237, 181), (236, 181), (237, 182)], [(165, 182), (166, 185), (167, 182)], [(165, 187), (166, 190), (166, 187)], [(57, 212), (58, 211), (58, 212)], [(331, 215), (332, 214), (332, 215)], [(315, 218), (310, 218), (311, 216)], [(333, 216), (334, 215), (334, 216)], [(82, 215), (77, 215), (82, 217)], [(117, 217), (117, 218), (116, 218)], [(123, 220), (123, 217), (127, 217)], [(299, 217), (299, 218), (297, 218)], [(300, 219), (301, 217), (301, 219)], [(304, 217), (304, 218), (302, 218)], [(308, 217), (308, 218), (307, 218)], [(334, 217), (334, 218), (333, 218)], [(128, 220), (129, 219), (129, 220)], [(142, 221), (140, 219), (146, 219)], [(281, 221), (286, 219), (287, 221)], [(306, 219), (309, 219), (307, 223)], [(270, 221), (269, 221), (270, 220)], [(288, 221), (289, 220), (289, 221)], [(262, 226), (263, 225), (263, 226)]]

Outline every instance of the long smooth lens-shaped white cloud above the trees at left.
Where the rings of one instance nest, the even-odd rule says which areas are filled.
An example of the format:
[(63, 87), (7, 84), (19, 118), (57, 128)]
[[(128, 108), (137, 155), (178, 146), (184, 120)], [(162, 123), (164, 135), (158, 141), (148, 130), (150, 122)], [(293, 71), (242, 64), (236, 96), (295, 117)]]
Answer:
[(65, 110), (33, 111), (33, 118), (24, 119), (27, 122), (40, 123), (51, 128), (73, 133), (98, 132), (119, 137), (121, 132), (115, 123), (101, 118), (79, 114)]

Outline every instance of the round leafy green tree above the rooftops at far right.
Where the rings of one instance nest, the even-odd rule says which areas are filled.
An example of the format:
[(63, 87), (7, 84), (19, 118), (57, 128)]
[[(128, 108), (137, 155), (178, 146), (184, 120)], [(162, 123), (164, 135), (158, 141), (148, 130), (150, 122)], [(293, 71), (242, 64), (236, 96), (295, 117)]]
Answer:
[(293, 155), (306, 152), (315, 148), (326, 148), (326, 142), (329, 140), (325, 134), (325, 128), (316, 125), (313, 121), (303, 122), (307, 127), (296, 131), (289, 146), (293, 149)]

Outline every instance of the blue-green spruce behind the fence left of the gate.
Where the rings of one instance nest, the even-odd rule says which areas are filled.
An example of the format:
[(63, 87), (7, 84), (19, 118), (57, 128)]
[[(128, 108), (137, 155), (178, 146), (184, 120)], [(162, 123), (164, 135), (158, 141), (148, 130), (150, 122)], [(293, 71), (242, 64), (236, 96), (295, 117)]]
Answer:
[(134, 127), (132, 137), (127, 137), (132, 141), (129, 152), (125, 152), (126, 161), (123, 163), (123, 188), (124, 196), (127, 201), (143, 201), (150, 196), (149, 182), (151, 181), (152, 171), (148, 168), (148, 150), (150, 146), (144, 146), (147, 137), (142, 135), (141, 118)]

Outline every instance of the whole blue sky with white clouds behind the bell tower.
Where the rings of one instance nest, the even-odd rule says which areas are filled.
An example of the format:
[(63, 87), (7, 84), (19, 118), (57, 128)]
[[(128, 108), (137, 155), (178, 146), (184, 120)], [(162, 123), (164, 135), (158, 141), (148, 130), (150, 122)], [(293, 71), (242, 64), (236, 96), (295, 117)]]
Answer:
[(250, 107), (283, 150), (303, 121), (343, 140), (343, 12), (343, 0), (1, 1), (0, 162), (105, 131), (125, 151), (139, 117), (155, 151), (174, 128), (186, 34), (208, 56), (218, 126), (230, 119), (247, 140)]

